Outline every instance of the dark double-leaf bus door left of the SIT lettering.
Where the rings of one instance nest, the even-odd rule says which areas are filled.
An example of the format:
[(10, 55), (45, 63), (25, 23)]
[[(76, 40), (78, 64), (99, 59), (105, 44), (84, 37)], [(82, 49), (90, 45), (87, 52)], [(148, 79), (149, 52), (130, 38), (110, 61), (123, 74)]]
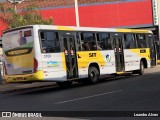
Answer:
[(62, 46), (65, 54), (67, 79), (78, 78), (76, 45), (74, 36), (63, 36)]

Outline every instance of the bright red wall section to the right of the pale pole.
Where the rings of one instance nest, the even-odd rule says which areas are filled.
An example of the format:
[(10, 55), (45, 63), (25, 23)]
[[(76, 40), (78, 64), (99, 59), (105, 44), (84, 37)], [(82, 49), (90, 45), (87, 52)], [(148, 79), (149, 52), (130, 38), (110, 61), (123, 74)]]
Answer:
[(80, 25), (95, 27), (143, 26), (152, 24), (151, 0), (81, 6)]

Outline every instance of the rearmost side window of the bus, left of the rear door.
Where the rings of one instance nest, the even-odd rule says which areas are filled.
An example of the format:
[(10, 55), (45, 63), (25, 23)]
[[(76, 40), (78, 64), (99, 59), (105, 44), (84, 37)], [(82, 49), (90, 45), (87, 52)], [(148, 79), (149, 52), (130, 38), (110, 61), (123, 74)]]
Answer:
[(41, 31), (40, 39), (42, 53), (55, 53), (61, 51), (57, 32)]

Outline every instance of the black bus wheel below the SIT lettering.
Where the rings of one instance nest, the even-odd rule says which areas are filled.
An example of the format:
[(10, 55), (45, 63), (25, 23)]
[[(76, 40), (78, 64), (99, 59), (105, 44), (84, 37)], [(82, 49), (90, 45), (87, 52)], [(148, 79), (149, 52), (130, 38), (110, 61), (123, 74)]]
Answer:
[(93, 83), (98, 82), (99, 74), (100, 74), (99, 70), (96, 67), (94, 67), (94, 66), (89, 67), (89, 71), (88, 71), (89, 84), (93, 84)]

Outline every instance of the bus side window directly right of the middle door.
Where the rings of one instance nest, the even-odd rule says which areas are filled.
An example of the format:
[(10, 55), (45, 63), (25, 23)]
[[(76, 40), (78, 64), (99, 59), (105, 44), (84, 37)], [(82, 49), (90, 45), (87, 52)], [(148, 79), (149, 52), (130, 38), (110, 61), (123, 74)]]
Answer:
[(133, 34), (124, 34), (124, 42), (126, 49), (136, 48), (136, 41)]

